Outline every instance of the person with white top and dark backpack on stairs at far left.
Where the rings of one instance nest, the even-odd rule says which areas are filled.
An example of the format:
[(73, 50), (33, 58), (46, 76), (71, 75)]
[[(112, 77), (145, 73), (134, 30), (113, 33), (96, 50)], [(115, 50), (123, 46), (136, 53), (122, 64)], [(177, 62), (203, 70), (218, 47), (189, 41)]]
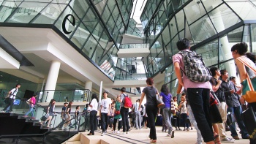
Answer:
[(5, 113), (5, 111), (7, 110), (7, 107), (10, 106), (10, 110), (9, 110), (9, 113), (13, 113), (12, 112), (12, 106), (13, 106), (13, 102), (16, 98), (16, 95), (18, 93), (18, 88), (20, 88), (20, 83), (18, 83), (15, 88), (12, 88), (11, 91), (9, 91), (8, 95), (7, 95), (7, 105), (4, 107), (4, 110), (1, 110), (1, 113)]

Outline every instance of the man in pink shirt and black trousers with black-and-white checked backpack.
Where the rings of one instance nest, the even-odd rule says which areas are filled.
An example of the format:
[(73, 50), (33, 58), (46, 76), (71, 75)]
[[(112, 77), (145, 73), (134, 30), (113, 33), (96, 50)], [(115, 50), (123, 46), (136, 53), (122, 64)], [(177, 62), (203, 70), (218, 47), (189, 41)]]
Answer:
[(214, 132), (209, 117), (209, 94), (211, 75), (204, 66), (203, 59), (190, 51), (189, 39), (176, 43), (178, 50), (173, 55), (173, 65), (178, 83), (187, 90), (190, 106), (197, 121), (198, 129), (206, 144), (214, 144)]

